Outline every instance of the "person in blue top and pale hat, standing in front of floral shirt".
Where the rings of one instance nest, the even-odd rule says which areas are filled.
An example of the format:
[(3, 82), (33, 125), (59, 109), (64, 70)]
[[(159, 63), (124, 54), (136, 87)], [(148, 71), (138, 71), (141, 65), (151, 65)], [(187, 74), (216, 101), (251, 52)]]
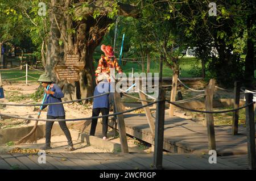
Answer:
[[(109, 92), (110, 85), (108, 81), (108, 74), (100, 74), (97, 78), (97, 86), (94, 90), (94, 95), (97, 96), (100, 94), (104, 94), (105, 92)], [(108, 115), (109, 114), (109, 94), (105, 94), (102, 96), (98, 96), (93, 98), (93, 110), (92, 110), (92, 117), (100, 115)], [(90, 127), (90, 135), (94, 136), (96, 131), (96, 126), (98, 123), (98, 119), (92, 119), (92, 124)], [(108, 132), (108, 117), (102, 117), (102, 137), (103, 140), (107, 139), (107, 132)]]

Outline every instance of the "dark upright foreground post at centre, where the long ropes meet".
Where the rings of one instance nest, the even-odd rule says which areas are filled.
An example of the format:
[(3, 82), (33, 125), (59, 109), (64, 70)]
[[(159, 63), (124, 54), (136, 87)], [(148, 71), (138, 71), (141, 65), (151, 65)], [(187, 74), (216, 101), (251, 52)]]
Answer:
[(164, 111), (165, 111), (165, 91), (159, 89), (155, 119), (155, 147), (154, 147), (154, 166), (162, 169), (163, 163), (163, 140), (164, 140)]

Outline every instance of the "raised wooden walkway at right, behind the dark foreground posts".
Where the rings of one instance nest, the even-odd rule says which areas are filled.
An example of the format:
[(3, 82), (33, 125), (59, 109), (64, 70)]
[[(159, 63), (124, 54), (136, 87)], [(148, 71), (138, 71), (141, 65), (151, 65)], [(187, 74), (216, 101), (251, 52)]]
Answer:
[[(152, 144), (150, 127), (144, 114), (125, 115), (125, 126), (127, 134)], [(231, 129), (232, 127), (215, 127), (217, 154), (247, 154), (246, 129), (240, 127), (240, 135), (237, 136), (232, 136)], [(192, 120), (166, 115), (164, 149), (172, 153), (208, 154), (207, 128)]]

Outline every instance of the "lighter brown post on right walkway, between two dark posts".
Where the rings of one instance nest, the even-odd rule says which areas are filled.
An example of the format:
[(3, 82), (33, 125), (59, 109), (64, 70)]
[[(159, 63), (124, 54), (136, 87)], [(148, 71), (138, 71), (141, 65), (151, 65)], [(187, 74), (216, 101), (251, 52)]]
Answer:
[[(205, 89), (205, 111), (213, 109), (213, 93), (215, 88), (215, 80), (210, 79), (209, 85)], [(205, 113), (205, 124), (207, 126), (209, 150), (216, 150), (214, 119), (212, 113)]]

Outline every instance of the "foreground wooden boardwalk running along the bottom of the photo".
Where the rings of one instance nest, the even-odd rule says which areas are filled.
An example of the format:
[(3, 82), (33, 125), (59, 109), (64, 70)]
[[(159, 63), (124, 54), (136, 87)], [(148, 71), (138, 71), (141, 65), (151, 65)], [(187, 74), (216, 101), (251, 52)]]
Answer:
[[(240, 160), (237, 163), (237, 159)], [(46, 155), (46, 163), (38, 163), (38, 155), (0, 154), (0, 170), (152, 170), (152, 154), (130, 153), (52, 153)], [(246, 159), (217, 157), (210, 164), (207, 157), (191, 154), (164, 154), (163, 169), (198, 170), (247, 169)]]

